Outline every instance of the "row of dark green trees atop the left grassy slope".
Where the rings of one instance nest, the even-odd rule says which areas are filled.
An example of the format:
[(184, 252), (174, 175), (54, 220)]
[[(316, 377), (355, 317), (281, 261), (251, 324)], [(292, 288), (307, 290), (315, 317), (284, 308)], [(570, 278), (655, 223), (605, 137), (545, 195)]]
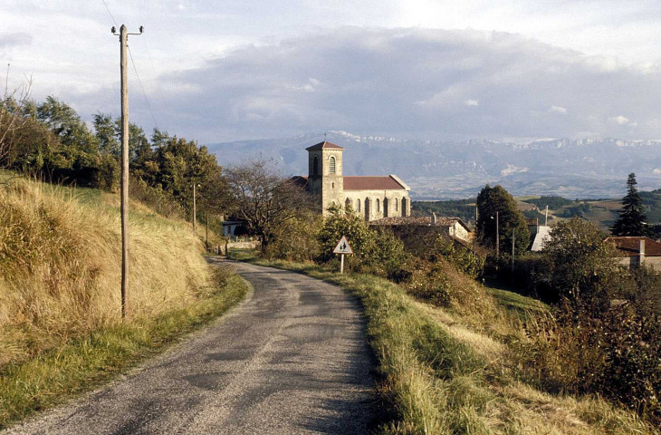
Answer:
[[(0, 168), (47, 181), (112, 190), (120, 179), (120, 118), (96, 113), (91, 127), (68, 104), (49, 96), (34, 102), (25, 89), (0, 101)], [(228, 204), (226, 181), (216, 157), (195, 140), (155, 128), (150, 137), (129, 123), (129, 166), (139, 186), (160, 202), (192, 212), (217, 213)], [(156, 193), (155, 193), (156, 192)]]

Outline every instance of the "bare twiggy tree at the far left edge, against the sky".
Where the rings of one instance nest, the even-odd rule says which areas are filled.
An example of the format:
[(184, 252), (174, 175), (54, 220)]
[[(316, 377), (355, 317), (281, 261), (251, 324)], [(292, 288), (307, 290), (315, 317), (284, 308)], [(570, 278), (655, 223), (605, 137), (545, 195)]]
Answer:
[(16, 132), (20, 132), (25, 123), (30, 120), (27, 108), (30, 106), (31, 89), (32, 79), (30, 78), (10, 90), (9, 65), (7, 65), (5, 92), (0, 98), (0, 166), (3, 165), (11, 151), (13, 141), (10, 140), (10, 137)]

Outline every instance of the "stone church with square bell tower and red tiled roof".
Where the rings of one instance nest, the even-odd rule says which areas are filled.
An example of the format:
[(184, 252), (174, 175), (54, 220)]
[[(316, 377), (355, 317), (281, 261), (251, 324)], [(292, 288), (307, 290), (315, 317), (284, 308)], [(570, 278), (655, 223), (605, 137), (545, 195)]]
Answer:
[(308, 176), (293, 179), (318, 198), (324, 216), (328, 215), (333, 204), (350, 206), (367, 221), (410, 215), (410, 188), (396, 175), (345, 177), (342, 174), (342, 147), (324, 140), (306, 150)]

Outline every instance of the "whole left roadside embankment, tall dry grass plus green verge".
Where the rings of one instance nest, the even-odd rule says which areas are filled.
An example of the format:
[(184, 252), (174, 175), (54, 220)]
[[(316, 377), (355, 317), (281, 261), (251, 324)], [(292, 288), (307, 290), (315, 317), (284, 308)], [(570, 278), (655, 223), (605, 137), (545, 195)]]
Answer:
[(132, 317), (122, 324), (117, 195), (3, 181), (0, 428), (109, 381), (247, 290), (208, 266), (189, 224), (131, 203)]

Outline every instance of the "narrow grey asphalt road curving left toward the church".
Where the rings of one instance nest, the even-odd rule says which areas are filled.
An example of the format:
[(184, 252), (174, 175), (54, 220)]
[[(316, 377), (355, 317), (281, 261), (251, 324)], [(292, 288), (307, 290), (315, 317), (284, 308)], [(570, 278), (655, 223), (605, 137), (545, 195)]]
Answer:
[(254, 293), (230, 314), (6, 433), (366, 433), (376, 415), (374, 362), (358, 302), (304, 275), (235, 267)]

